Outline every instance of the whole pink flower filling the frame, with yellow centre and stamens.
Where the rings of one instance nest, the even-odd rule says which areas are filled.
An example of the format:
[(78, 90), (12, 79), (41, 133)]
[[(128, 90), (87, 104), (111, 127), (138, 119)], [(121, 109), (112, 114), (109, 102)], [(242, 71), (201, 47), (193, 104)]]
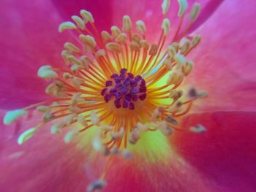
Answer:
[[(192, 9), (194, 3), (194, 1), (188, 2), (189, 8), (186, 14)], [(190, 43), (197, 34), (200, 34), (203, 38), (200, 45), (193, 48), (189, 55), (187, 55), (187, 52), (190, 52), (190, 50), (186, 50), (185, 47), (185, 50), (178, 50), (178, 53), (176, 53), (176, 50), (171, 55), (173, 47), (175, 48), (175, 45), (173, 45), (169, 48), (170, 53), (167, 57), (167, 60), (169, 59), (172, 62), (165, 60), (166, 62), (163, 62), (166, 65), (165, 67), (159, 67), (157, 64), (149, 62), (148, 67), (153, 66), (153, 70), (148, 70), (148, 68), (144, 70), (143, 67), (142, 69), (135, 68), (135, 65), (128, 64), (125, 53), (123, 59), (123, 55), (118, 52), (120, 50), (119, 46), (124, 46), (122, 50), (125, 50), (125, 45), (121, 42), (118, 42), (118, 45), (106, 45), (108, 50), (105, 50), (107, 53), (108, 51), (114, 52), (111, 61), (116, 61), (116, 67), (105, 65), (106, 63), (99, 59), (97, 69), (105, 70), (101, 70), (101, 72), (100, 70), (90, 71), (91, 73), (87, 74), (86, 70), (88, 69), (86, 67), (90, 67), (86, 66), (87, 63), (84, 64), (83, 69), (76, 69), (75, 67), (78, 66), (75, 66), (75, 64), (80, 64), (79, 62), (82, 59), (79, 61), (72, 60), (73, 72), (70, 72), (70, 70), (69, 72), (73, 81), (69, 79), (69, 74), (64, 74), (66, 81), (63, 82), (72, 84), (72, 88), (66, 84), (57, 84), (59, 86), (57, 89), (56, 84), (53, 84), (55, 86), (53, 91), (49, 91), (50, 88), (48, 87), (48, 92), (54, 95), (60, 96), (61, 94), (63, 96), (62, 94), (67, 94), (64, 96), (69, 98), (68, 101), (62, 101), (64, 99), (54, 100), (59, 101), (59, 104), (67, 105), (64, 106), (67, 107), (63, 110), (64, 113), (56, 112), (61, 109), (60, 106), (56, 108), (53, 105), (51, 106), (52, 112), (55, 112), (54, 114), (48, 112), (47, 107), (41, 107), (41, 110), (46, 112), (45, 121), (42, 121), (42, 114), (35, 112), (35, 110), (29, 112), (16, 111), (16, 115), (18, 113), (27, 113), (27, 115), (11, 126), (1, 124), (0, 191), (86, 191), (87, 186), (98, 179), (104, 180), (99, 181), (99, 185), (106, 184), (102, 191), (255, 191), (256, 103), (254, 99), (256, 96), (256, 72), (253, 61), (256, 58), (254, 53), (256, 22), (253, 17), (255, 16), (256, 3), (249, 0), (243, 1), (243, 3), (241, 4), (238, 1), (202, 0), (200, 1), (201, 13), (195, 23), (187, 28), (189, 19), (184, 18), (184, 25), (176, 33), (182, 18), (177, 16), (178, 3), (176, 1), (171, 1), (170, 9), (165, 16), (162, 15), (160, 7), (162, 1), (77, 1), (76, 3), (56, 0), (1, 1), (0, 106), (1, 118), (4, 118), (5, 124), (9, 124), (13, 118), (13, 116), (9, 118), (7, 118), (7, 115), (4, 116), (7, 110), (20, 109), (38, 101), (49, 99), (53, 101), (52, 98), (56, 99), (56, 97), (45, 94), (45, 88), (49, 82), (39, 79), (37, 74), (40, 77), (53, 77), (54, 79), (60, 78), (56, 76), (57, 74), (62, 75), (61, 70), (66, 70), (64, 72), (69, 70), (69, 59), (71, 59), (70, 56), (73, 53), (68, 55), (68, 59), (65, 58), (67, 56), (65, 53), (62, 54), (64, 60), (66, 59), (67, 65), (65, 65), (60, 54), (64, 49), (64, 42), (74, 42), (74, 44), (81, 45), (79, 43), (82, 41), (87, 47), (87, 52), (90, 54), (97, 53), (100, 57), (102, 52), (99, 53), (94, 50), (98, 50), (98, 47), (94, 47), (93, 39), (83, 36), (79, 37), (80, 39), (78, 38), (80, 29), (64, 31), (61, 34), (57, 31), (60, 23), (71, 20), (70, 16), (78, 15), (80, 9), (87, 9), (93, 14), (97, 30), (100, 31), (110, 31), (110, 26), (113, 25), (121, 28), (123, 15), (130, 16), (133, 28), (135, 28), (137, 20), (143, 20), (146, 24), (148, 45), (152, 47), (152, 43), (157, 44), (159, 37), (162, 37), (157, 50), (161, 47), (164, 37), (166, 37), (166, 42), (172, 39), (179, 42), (181, 37), (186, 36)], [(164, 8), (167, 8), (167, 6), (164, 6)], [(186, 8), (186, 4), (181, 3), (181, 8)], [(182, 15), (182, 12), (180, 13)], [(88, 13), (86, 14), (86, 17), (89, 17)], [(170, 19), (170, 28), (168, 27), (168, 21), (165, 20), (162, 27), (164, 30), (163, 36), (160, 36), (162, 19), (165, 17)], [(126, 17), (124, 20), (124, 23), (127, 23), (127, 31), (129, 31), (129, 18)], [(89, 26), (89, 30), (94, 31), (93, 24), (89, 22), (86, 25)], [(138, 26), (143, 26), (143, 24), (140, 22)], [(62, 29), (77, 28), (70, 23), (68, 26), (66, 23), (66, 26), (62, 27)], [(170, 31), (167, 33), (169, 29)], [(124, 28), (124, 31), (128, 39), (129, 32), (126, 31), (126, 28)], [(143, 27), (139, 34), (139, 37), (143, 39)], [(94, 38), (97, 44), (103, 44), (99, 41), (100, 38), (97, 37), (97, 34), (94, 35)], [(167, 50), (167, 45), (170, 44), (166, 43), (163, 51)], [(66, 45), (66, 50), (69, 49), (70, 51), (72, 49), (70, 46), (72, 47), (72, 45)], [(133, 53), (135, 54), (137, 44), (134, 43), (134, 46), (135, 51)], [(154, 46), (152, 49), (153, 53), (149, 53), (149, 51), (148, 58), (151, 55), (157, 57), (158, 52), (154, 53)], [(132, 51), (129, 52), (130, 55), (132, 55), (131, 53)], [(102, 54), (105, 57), (105, 53)], [(133, 85), (129, 84), (127, 88), (130, 89), (128, 91), (137, 94), (139, 99), (135, 99), (135, 102), (129, 102), (128, 107), (125, 107), (124, 103), (118, 104), (118, 101), (114, 103), (113, 96), (108, 92), (109, 90), (106, 93), (99, 94), (105, 88), (100, 86), (102, 79), (109, 77), (108, 73), (116, 72), (112, 69), (124, 68), (118, 67), (118, 54), (121, 61), (123, 61), (123, 64), (120, 62), (121, 66), (125, 66), (134, 74), (138, 74), (140, 71), (146, 73), (146, 75), (142, 75), (147, 85), (145, 86), (147, 89), (146, 96), (142, 96), (144, 91), (138, 93), (136, 89), (130, 88)], [(137, 54), (139, 54), (138, 51)], [(184, 58), (184, 55), (187, 55), (187, 57)], [(161, 56), (163, 55), (160, 54), (159, 58)], [(94, 55), (94, 58), (96, 57)], [(133, 55), (132, 58), (134, 59), (132, 64), (136, 63), (136, 56)], [(143, 63), (142, 56), (141, 59)], [(195, 61), (195, 66), (189, 75), (187, 75), (190, 72), (189, 68), (184, 68), (187, 64), (191, 64), (187, 61)], [(108, 61), (106, 62), (108, 63)], [(140, 59), (138, 59), (138, 62), (140, 62)], [(166, 85), (166, 80), (160, 81), (158, 84), (153, 82), (160, 79), (158, 74), (161, 70), (178, 66), (170, 65), (173, 62), (175, 64), (181, 63), (181, 68), (177, 67), (176, 78), (169, 79), (170, 85), (175, 87), (175, 89), (170, 88), (174, 91), (171, 92), (172, 96), (170, 97), (173, 100), (170, 102), (165, 100), (169, 99), (169, 96), (166, 98), (165, 95), (159, 92), (165, 91), (164, 88), (157, 90), (157, 88)], [(48, 64), (50, 66), (41, 68), (39, 72), (37, 71), (40, 66)], [(82, 76), (79, 72), (83, 72), (83, 70), (85, 72), (83, 77), (86, 77), (86, 81), (80, 82)], [(147, 76), (147, 74), (149, 75)], [(165, 74), (165, 72), (162, 71), (162, 74)], [(179, 78), (181, 74), (182, 78)], [(77, 75), (78, 79), (75, 79)], [(179, 80), (183, 80), (184, 76), (186, 77), (180, 86)], [(61, 77), (61, 80), (65, 78)], [(139, 85), (142, 85), (143, 79), (138, 78), (140, 78), (138, 80)], [(151, 82), (154, 85), (153, 88), (148, 85)], [(84, 85), (83, 83), (87, 83), (85, 85), (87, 87), (84, 89), (80, 88), (80, 85)], [(119, 82), (112, 83), (118, 84)], [(189, 88), (193, 85), (196, 86), (197, 90), (207, 91), (208, 97), (195, 101), (195, 99), (203, 97), (203, 92)], [(90, 89), (89, 86), (93, 86), (93, 88)], [(108, 85), (106, 86), (108, 88)], [(144, 86), (142, 87), (144, 88)], [(135, 86), (135, 88), (137, 87)], [(183, 93), (189, 93), (190, 100), (179, 100), (179, 88), (182, 88)], [(168, 93), (170, 89), (167, 89)], [(81, 91), (82, 96), (79, 94), (74, 96), (74, 93)], [(89, 91), (91, 92), (89, 93)], [(108, 94), (112, 96), (110, 101), (106, 97)], [(87, 99), (88, 103), (82, 105), (82, 100), (75, 101), (75, 99), (81, 98)], [(142, 104), (139, 105), (140, 103), (137, 100), (141, 101)], [(101, 101), (104, 101), (103, 105), (100, 103)], [(124, 99), (121, 101), (124, 101)], [(154, 106), (152, 107), (151, 103), (153, 101)], [(181, 106), (184, 106), (185, 111), (178, 111), (179, 104), (174, 105), (176, 106), (175, 109), (169, 109), (169, 107), (165, 109), (166, 102), (172, 103), (173, 101), (181, 101)], [(173, 104), (177, 104), (177, 102), (173, 102)], [(189, 106), (184, 103), (189, 104)], [(193, 106), (190, 110), (190, 104), (192, 103)], [(99, 107), (99, 110), (107, 112), (106, 115), (101, 116), (97, 107)], [(140, 107), (143, 112), (138, 110)], [(111, 109), (110, 116), (108, 116), (109, 108)], [(25, 109), (29, 108), (26, 107)], [(57, 110), (54, 111), (55, 109)], [(81, 109), (86, 112), (89, 111), (89, 113), (85, 112), (83, 116), (86, 117), (86, 122), (84, 118), (78, 118), (78, 114), (80, 114), (78, 111)], [(94, 110), (96, 112), (92, 112)], [(167, 110), (169, 115), (166, 115)], [(187, 110), (189, 110), (189, 113), (187, 113)], [(67, 116), (65, 114), (67, 111), (77, 114), (70, 118), (72, 122), (78, 121), (85, 127), (79, 129), (82, 130), (82, 133), (73, 142), (70, 142), (70, 136), (75, 132), (69, 132), (69, 128), (64, 128), (61, 137), (49, 134), (50, 131), (58, 133), (60, 130), (56, 125), (61, 125), (64, 122), (63, 120), (59, 120), (57, 122), (59, 124), (53, 121), (53, 123), (50, 122), (44, 125), (46, 121), (55, 119), (58, 115)], [(122, 112), (125, 112), (123, 116), (116, 118)], [(147, 112), (150, 114), (150, 119), (147, 118), (147, 115), (143, 116)], [(187, 116), (182, 115), (183, 112)], [(182, 118), (178, 117), (179, 114)], [(108, 117), (112, 118), (108, 119)], [(180, 122), (178, 126), (176, 120)], [(138, 124), (139, 121), (140, 124)], [(116, 122), (118, 122), (118, 125), (116, 125)], [(67, 118), (65, 123), (67, 124)], [(103, 127), (102, 123), (108, 123), (113, 127)], [(127, 126), (129, 123), (130, 125)], [(66, 124), (65, 126), (67, 126)], [(170, 131), (173, 131), (173, 129), (166, 126), (170, 124), (174, 129), (172, 134), (170, 134)], [(54, 129), (54, 126), (57, 129)], [(138, 132), (130, 131), (129, 138), (128, 135), (127, 137), (125, 135), (121, 137), (126, 138), (124, 139), (126, 142), (122, 142), (122, 139), (113, 141), (113, 134), (120, 133), (121, 126), (133, 128), (131, 130), (136, 129), (140, 133), (140, 137), (136, 137)], [(26, 130), (32, 127), (35, 128), (29, 129), (31, 132), (28, 134)], [(145, 127), (152, 129), (152, 131), (144, 133), (141, 130)], [(80, 128), (80, 126), (76, 124), (75, 128)], [(112, 139), (105, 145), (110, 151), (102, 147), (105, 141), (102, 139), (102, 134), (95, 134), (95, 130), (99, 130), (99, 128), (100, 130), (105, 129), (101, 133), (106, 135), (108, 134), (108, 128), (116, 128), (116, 132), (111, 132)], [(154, 129), (159, 129), (159, 131), (154, 131)], [(26, 134), (23, 134), (24, 131)], [(35, 131), (37, 131), (36, 134), (34, 134)], [(170, 134), (170, 136), (165, 136), (161, 131), (164, 134)], [(64, 135), (66, 135), (64, 141), (68, 144), (63, 142)], [(33, 136), (33, 138), (29, 139), (30, 136)], [(118, 136), (116, 135), (116, 137)], [(22, 144), (21, 146), (18, 145), (17, 140), (19, 144)], [(137, 143), (133, 145), (129, 144), (128, 141)], [(114, 145), (112, 144), (118, 145), (118, 150), (126, 158), (131, 155), (129, 153), (131, 152), (132, 158), (126, 159), (120, 154), (102, 155), (102, 153), (113, 153)], [(129, 152), (126, 150), (127, 145), (129, 145)], [(96, 152), (97, 150), (99, 152)]]

